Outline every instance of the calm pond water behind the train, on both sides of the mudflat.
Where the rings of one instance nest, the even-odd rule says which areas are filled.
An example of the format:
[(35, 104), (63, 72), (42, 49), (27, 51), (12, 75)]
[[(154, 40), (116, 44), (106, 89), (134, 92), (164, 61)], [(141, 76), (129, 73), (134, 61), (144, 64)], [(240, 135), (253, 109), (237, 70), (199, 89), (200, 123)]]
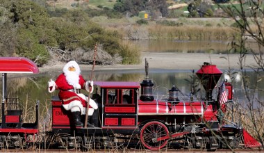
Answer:
[[(192, 47), (192, 43), (198, 43), (200, 44), (200, 48), (195, 47), (192, 48), (192, 51), (204, 51), (206, 49), (215, 47), (213, 50), (216, 51), (224, 51), (224, 47), (226, 45), (226, 42), (212, 42), (214, 45), (208, 45), (209, 42), (203, 42), (203, 44), (208, 45), (208, 47), (203, 47), (201, 45), (201, 42), (182, 42), (183, 44), (179, 42), (135, 42), (142, 47), (142, 51), (187, 51), (191, 50), (188, 47)], [(160, 44), (159, 44), (160, 43)], [(167, 43), (167, 44), (166, 44)], [(175, 44), (174, 44), (175, 43)], [(142, 45), (140, 45), (142, 44)], [(157, 45), (158, 44), (158, 45)], [(173, 45), (169, 45), (173, 44)], [(179, 46), (185, 46), (183, 48), (176, 47), (178, 44), (181, 44)], [(218, 45), (219, 44), (219, 45)], [(176, 45), (176, 46), (174, 46)], [(154, 47), (156, 46), (156, 47)], [(206, 46), (206, 45), (205, 45)], [(222, 46), (222, 48), (221, 48)], [(159, 47), (159, 48), (158, 48)], [(170, 49), (169, 49), (170, 48)], [(173, 50), (174, 48), (174, 50)], [(191, 54), (191, 53), (190, 53)], [(63, 69), (63, 67), (62, 67)], [(196, 72), (197, 70), (195, 70)], [(222, 72), (226, 73), (226, 70), (222, 70)], [(90, 78), (90, 72), (83, 70), (82, 74), (85, 79)], [(10, 77), (8, 78), (8, 96), (11, 97), (20, 97), (22, 101), (27, 103), (28, 105), (33, 105), (37, 100), (40, 100), (41, 106), (50, 105), (50, 99), (51, 95), (57, 95), (57, 92), (53, 92), (52, 94), (47, 92), (47, 81), (49, 79), (55, 80), (56, 77), (58, 77), (59, 72), (53, 72), (53, 73), (45, 73), (45, 74), (37, 74), (35, 76), (31, 77)], [(248, 80), (251, 82), (254, 82), (256, 80), (256, 74), (254, 72), (249, 71), (249, 78)], [(151, 67), (149, 68), (149, 79), (152, 79), (154, 82), (154, 96), (157, 98), (164, 98), (168, 95), (168, 90), (172, 88), (173, 85), (175, 85), (181, 92), (183, 92), (184, 95), (190, 95), (190, 77), (192, 76), (192, 70), (151, 70)], [(220, 81), (224, 79), (224, 74), (220, 78)], [(233, 81), (232, 84), (234, 86), (234, 99), (242, 102), (245, 101), (245, 95), (242, 92), (242, 82), (240, 80), (240, 76), (238, 73), (238, 76), (236, 77), (236, 81)], [(94, 72), (94, 81), (137, 81), (139, 83), (142, 82), (142, 80), (145, 79), (145, 71), (144, 70), (104, 70), (104, 71), (98, 71), (96, 70)], [(258, 81), (258, 90), (254, 92), (254, 96), (256, 99), (259, 99), (261, 101), (264, 100), (264, 81), (263, 79)], [(204, 88), (201, 88), (201, 91), (199, 92), (199, 95), (201, 97), (204, 97)], [(1, 89), (0, 89), (1, 90)], [(250, 91), (251, 92), (251, 91)], [(253, 96), (251, 95), (251, 96)]]

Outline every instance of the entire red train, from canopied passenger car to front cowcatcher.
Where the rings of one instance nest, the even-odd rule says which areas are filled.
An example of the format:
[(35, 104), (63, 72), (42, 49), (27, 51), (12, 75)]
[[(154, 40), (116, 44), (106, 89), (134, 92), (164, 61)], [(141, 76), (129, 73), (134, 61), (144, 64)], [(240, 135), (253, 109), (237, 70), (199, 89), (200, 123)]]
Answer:
[(38, 126), (38, 103), (35, 123), (24, 123), (22, 106), (17, 98), (8, 97), (6, 86), (8, 73), (34, 74), (39, 72), (38, 67), (27, 58), (0, 57), (0, 72), (3, 78), (1, 148), (34, 144), (47, 149), (49, 143), (49, 146), (82, 150), (116, 146), (217, 150), (260, 145), (240, 125), (222, 120), (226, 102), (233, 102), (233, 87), (224, 82), (226, 99), (222, 99), (220, 88), (217, 88), (217, 98), (213, 99), (213, 89), (222, 75), (216, 65), (204, 63), (196, 72), (206, 90), (203, 99), (192, 95), (180, 97), (179, 89), (174, 86), (169, 90), (169, 98), (155, 99), (147, 62), (146, 78), (141, 83), (94, 81), (97, 90), (92, 99), (99, 106), (99, 118), (93, 120), (98, 121), (97, 127), (75, 127), (71, 113), (64, 110), (58, 96), (53, 96), (52, 130), (44, 132)]

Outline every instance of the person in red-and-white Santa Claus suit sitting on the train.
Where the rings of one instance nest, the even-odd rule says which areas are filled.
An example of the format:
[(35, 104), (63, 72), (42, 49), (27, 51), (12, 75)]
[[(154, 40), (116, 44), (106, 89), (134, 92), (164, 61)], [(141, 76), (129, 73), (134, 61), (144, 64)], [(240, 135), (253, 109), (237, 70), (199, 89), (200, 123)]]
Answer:
[[(89, 97), (83, 95), (80, 89), (92, 92), (94, 89), (93, 81), (85, 81), (76, 61), (69, 61), (63, 67), (63, 74), (60, 74), (56, 81), (49, 81), (49, 92), (53, 92), (55, 89), (60, 90), (58, 97), (63, 100), (63, 108), (72, 112), (75, 126), (83, 126), (81, 114), (85, 114), (85, 108)], [(94, 110), (97, 110), (98, 106), (94, 100), (89, 100), (90, 108), (88, 110), (88, 115), (92, 115)], [(93, 127), (93, 124), (88, 122), (88, 126)]]

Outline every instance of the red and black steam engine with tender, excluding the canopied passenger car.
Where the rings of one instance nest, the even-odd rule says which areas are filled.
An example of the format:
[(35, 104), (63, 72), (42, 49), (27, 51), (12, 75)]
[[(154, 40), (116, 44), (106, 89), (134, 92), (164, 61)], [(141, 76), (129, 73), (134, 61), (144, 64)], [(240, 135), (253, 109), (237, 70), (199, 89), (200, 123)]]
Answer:
[[(240, 125), (226, 124), (222, 120), (225, 105), (233, 102), (231, 83), (223, 81), (213, 99), (212, 92), (222, 72), (216, 65), (204, 63), (196, 74), (206, 90), (205, 98), (180, 97), (179, 90), (172, 87), (169, 98), (155, 99), (148, 64), (146, 78), (141, 83), (94, 81), (97, 92), (92, 97), (99, 104), (99, 127), (76, 129), (74, 135), (80, 136), (85, 146), (93, 142), (97, 147), (111, 147), (109, 144), (115, 143), (140, 144), (149, 150), (160, 150), (165, 146), (217, 150), (238, 148), (241, 143), (252, 146), (251, 142), (256, 140)], [(70, 115), (61, 108), (60, 99), (53, 97), (52, 104), (53, 132), (70, 132)], [(251, 140), (245, 139), (245, 134)], [(64, 140), (74, 143), (70, 138)], [(137, 141), (140, 143), (132, 144)], [(259, 145), (258, 142), (255, 144)]]

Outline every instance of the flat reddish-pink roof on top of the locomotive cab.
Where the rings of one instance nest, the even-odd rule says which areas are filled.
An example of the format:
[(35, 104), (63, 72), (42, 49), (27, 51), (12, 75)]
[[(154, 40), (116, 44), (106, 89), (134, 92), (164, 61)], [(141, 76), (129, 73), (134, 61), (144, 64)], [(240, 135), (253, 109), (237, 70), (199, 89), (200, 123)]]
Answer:
[(101, 88), (140, 88), (138, 82), (124, 81), (94, 81), (94, 85), (101, 86)]

